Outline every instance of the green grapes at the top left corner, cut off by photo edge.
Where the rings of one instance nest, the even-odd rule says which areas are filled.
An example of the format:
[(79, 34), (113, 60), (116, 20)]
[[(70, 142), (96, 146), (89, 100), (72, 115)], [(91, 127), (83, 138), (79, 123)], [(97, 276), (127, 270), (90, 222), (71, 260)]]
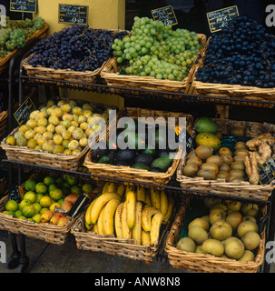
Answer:
[(25, 20), (10, 20), (6, 17), (6, 26), (0, 27), (0, 58), (11, 53), (15, 48), (25, 46), (26, 38), (44, 27), (42, 17)]

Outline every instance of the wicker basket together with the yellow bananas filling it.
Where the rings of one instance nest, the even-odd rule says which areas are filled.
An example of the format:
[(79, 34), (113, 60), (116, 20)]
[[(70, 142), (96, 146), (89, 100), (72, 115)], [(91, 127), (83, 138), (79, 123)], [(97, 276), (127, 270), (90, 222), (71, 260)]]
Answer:
[(152, 263), (174, 215), (164, 191), (105, 183), (72, 228), (79, 249)]

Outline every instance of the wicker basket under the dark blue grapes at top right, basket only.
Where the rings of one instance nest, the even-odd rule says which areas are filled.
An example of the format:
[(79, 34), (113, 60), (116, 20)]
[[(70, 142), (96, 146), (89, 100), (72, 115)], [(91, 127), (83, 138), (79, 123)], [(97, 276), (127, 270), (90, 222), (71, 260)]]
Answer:
[(195, 68), (194, 78), (192, 86), (196, 89), (199, 95), (213, 95), (222, 96), (227, 98), (243, 98), (247, 100), (259, 100), (259, 101), (274, 101), (275, 100), (275, 88), (259, 88), (256, 86), (245, 86), (245, 85), (229, 85), (229, 84), (212, 84), (203, 83), (196, 80), (196, 71), (199, 67), (204, 64), (205, 56), (207, 55), (208, 39), (205, 45), (205, 55), (202, 55), (200, 65)]

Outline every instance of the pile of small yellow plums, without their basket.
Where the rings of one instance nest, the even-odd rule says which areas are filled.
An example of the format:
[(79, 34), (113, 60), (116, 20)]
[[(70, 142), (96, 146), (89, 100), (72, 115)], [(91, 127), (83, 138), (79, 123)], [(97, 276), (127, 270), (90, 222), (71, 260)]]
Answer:
[(87, 103), (77, 105), (74, 100), (64, 99), (56, 104), (50, 100), (32, 112), (14, 135), (7, 136), (6, 143), (53, 154), (79, 155), (89, 138), (103, 130), (108, 112)]

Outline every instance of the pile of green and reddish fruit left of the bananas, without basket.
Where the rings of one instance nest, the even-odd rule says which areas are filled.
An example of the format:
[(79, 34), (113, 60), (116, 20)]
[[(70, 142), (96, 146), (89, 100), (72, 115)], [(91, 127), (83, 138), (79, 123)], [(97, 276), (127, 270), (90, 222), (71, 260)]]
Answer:
[(11, 199), (5, 203), (3, 214), (37, 224), (64, 226), (69, 218), (56, 211), (55, 207), (67, 213), (81, 193), (93, 192), (93, 186), (78, 182), (74, 176), (45, 176), (44, 179), (31, 178), (25, 181), (24, 190), (25, 194), (19, 203)]

